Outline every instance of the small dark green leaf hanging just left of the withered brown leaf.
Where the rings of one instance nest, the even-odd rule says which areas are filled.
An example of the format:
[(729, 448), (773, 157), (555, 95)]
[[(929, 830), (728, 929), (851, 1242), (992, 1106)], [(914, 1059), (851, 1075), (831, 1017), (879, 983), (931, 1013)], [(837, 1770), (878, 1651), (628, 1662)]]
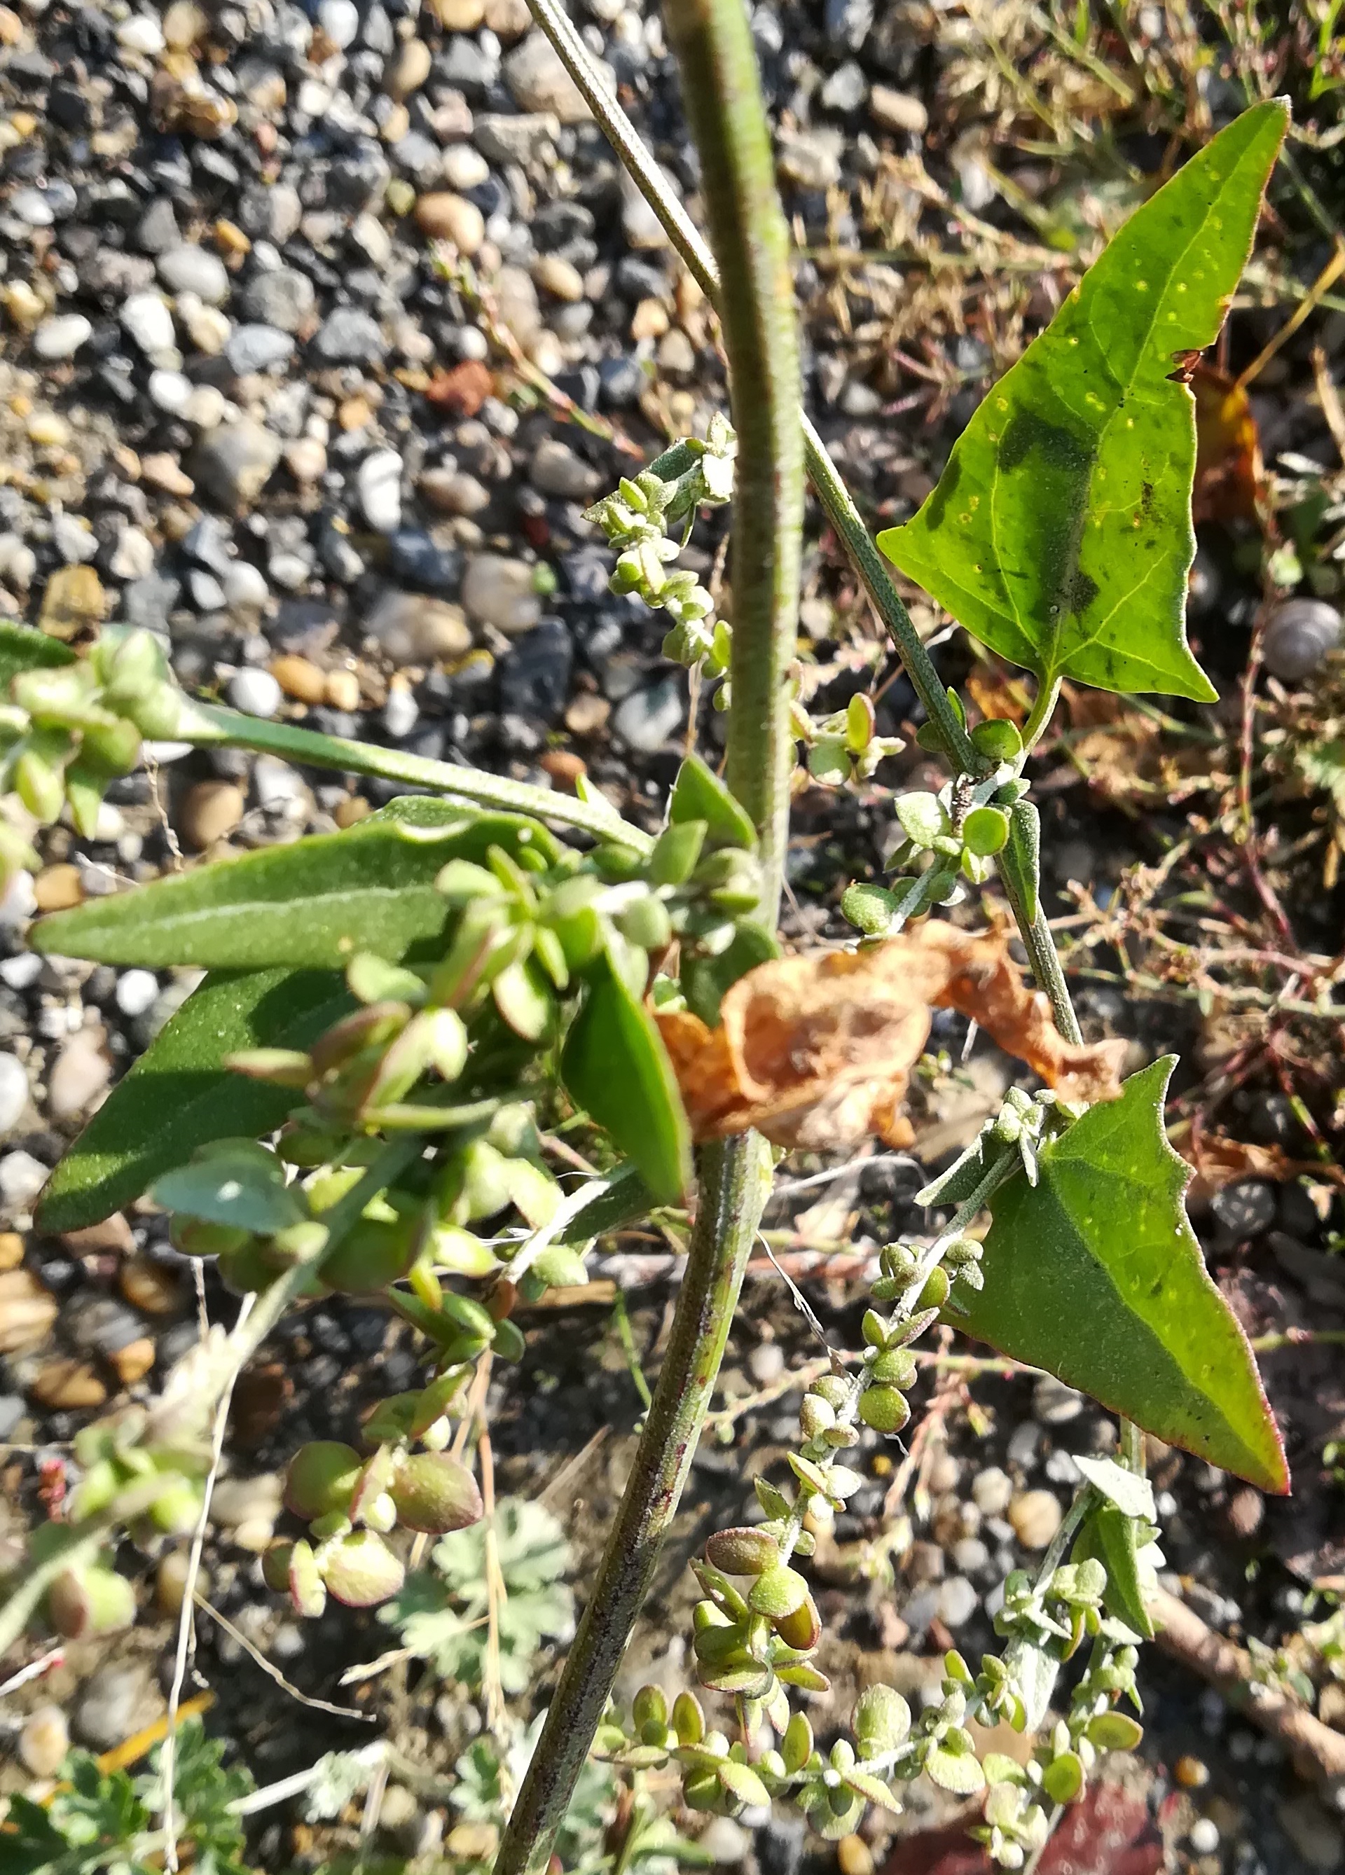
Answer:
[(647, 1009), (606, 952), (587, 971), (561, 1080), (636, 1164), (655, 1204), (677, 1204), (690, 1185), (690, 1127), (677, 1076)]

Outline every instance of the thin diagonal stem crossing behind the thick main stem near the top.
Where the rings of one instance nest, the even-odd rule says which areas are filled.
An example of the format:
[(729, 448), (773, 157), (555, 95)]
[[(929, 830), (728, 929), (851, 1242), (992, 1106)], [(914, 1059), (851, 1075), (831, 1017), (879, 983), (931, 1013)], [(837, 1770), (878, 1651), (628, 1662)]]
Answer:
[[(561, 64), (578, 84), (585, 103), (602, 126), (608, 142), (621, 158), (627, 174), (658, 216), (673, 248), (683, 257), (687, 268), (700, 283), (707, 298), (715, 304), (720, 319), (724, 319), (726, 306), (720, 294), (720, 270), (715, 264), (713, 253), (702, 240), (696, 223), (673, 195), (668, 178), (658, 169), (658, 163), (640, 141), (640, 133), (634, 124), (606, 88), (602, 75), (593, 64), (589, 49), (574, 30), (561, 0), (527, 0), (527, 4), (533, 9), (533, 19), (555, 47)], [(737, 279), (737, 272), (733, 270), (730, 278)], [(812, 482), (818, 501), (825, 510), (827, 521), (844, 546), (852, 566), (859, 574), (878, 617), (884, 621), (893, 643), (897, 645), (900, 660), (906, 666), (906, 675), (912, 681), (915, 696), (925, 707), (925, 714), (938, 726), (953, 763), (970, 774), (979, 772), (985, 763), (972, 746), (966, 729), (947, 701), (947, 692), (940, 682), (934, 662), (925, 651), (919, 632), (912, 624), (910, 613), (902, 606), (900, 594), (893, 585), (891, 574), (887, 572), (878, 548), (869, 536), (869, 529), (854, 504), (850, 489), (837, 474), (837, 467), (827, 456), (822, 437), (816, 433), (809, 418), (803, 416), (801, 422), (809, 480)], [(737, 604), (737, 591), (733, 592), (733, 598)], [(737, 634), (739, 628), (739, 613), (735, 611), (733, 632)]]

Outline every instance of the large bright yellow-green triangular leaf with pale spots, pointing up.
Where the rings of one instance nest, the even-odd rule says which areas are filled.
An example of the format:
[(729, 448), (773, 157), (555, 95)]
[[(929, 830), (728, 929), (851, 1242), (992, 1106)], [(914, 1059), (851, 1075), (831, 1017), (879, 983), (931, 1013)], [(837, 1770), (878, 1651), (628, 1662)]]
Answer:
[(1283, 101), (1229, 124), (1122, 227), (878, 546), (960, 624), (1035, 671), (1212, 701), (1186, 643), (1195, 403), (1251, 251)]

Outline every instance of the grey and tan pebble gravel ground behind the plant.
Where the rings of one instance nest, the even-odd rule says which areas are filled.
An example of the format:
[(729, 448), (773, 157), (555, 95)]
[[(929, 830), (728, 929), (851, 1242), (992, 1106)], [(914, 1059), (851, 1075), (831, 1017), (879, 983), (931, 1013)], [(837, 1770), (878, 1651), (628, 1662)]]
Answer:
[[(944, 214), (942, 189), (960, 201), (962, 229), (970, 216), (1004, 231), (1002, 246), (1022, 242), (1013, 204), (1039, 193), (1043, 165), (1024, 159), (1019, 195), (1000, 191), (977, 131), (994, 109), (983, 99), (977, 116), (959, 92), (968, 36), (960, 11), (951, 15), (944, 30), (917, 4), (754, 13), (786, 206), (810, 253), (797, 266), (809, 403), (874, 525), (923, 499), (1024, 321), (1039, 324), (1060, 292), (1050, 268), (1062, 262), (977, 285), (968, 276), (966, 291), (945, 272), (902, 274), (899, 253), (846, 276), (848, 287), (829, 266), (827, 255), (857, 244), (897, 251), (921, 229), (929, 236), (921, 216)], [(582, 24), (692, 197), (657, 13), (585, 0)], [(1154, 169), (1156, 142), (1135, 139), (1133, 159)], [(957, 227), (938, 221), (929, 238)], [(1317, 249), (1307, 244), (1294, 264), (1311, 279)], [(687, 681), (660, 662), (660, 622), (608, 594), (610, 557), (582, 508), (668, 437), (703, 431), (722, 371), (700, 292), (623, 184), (523, 0), (0, 6), (0, 613), (64, 638), (105, 619), (143, 624), (167, 638), (184, 684), (251, 716), (557, 788), (587, 771), (623, 810), (655, 818), (688, 733)], [(1279, 319), (1247, 313), (1238, 345), (1255, 351)], [(1345, 334), (1328, 328), (1328, 343), (1332, 334), (1339, 345)], [(1321, 416), (1294, 405), (1287, 426), (1289, 401), (1272, 375), (1257, 401), (1264, 435), (1313, 448)], [(711, 576), (718, 542), (703, 523), (687, 564)], [(1253, 596), (1229, 542), (1206, 544), (1202, 570), (1197, 630), (1227, 677), (1246, 654)], [(807, 581), (809, 686), (837, 707), (891, 677), (878, 728), (900, 733), (912, 692), (829, 542), (814, 538)], [(944, 656), (957, 681), (966, 652), (949, 645)], [(717, 728), (703, 711), (703, 742)], [(351, 825), (394, 791), (270, 758), (165, 748), (148, 772), (114, 784), (96, 840), (56, 829), (36, 885), (21, 881), (0, 904), (0, 1536), (4, 1519), (9, 1534), (23, 1528), (77, 1427), (148, 1395), (199, 1335), (188, 1264), (158, 1219), (133, 1213), (66, 1239), (28, 1232), (47, 1168), (193, 979), (26, 954), (28, 917), (197, 855)], [(885, 799), (801, 799), (790, 857), (797, 936), (839, 930), (837, 889), (880, 859)], [(1135, 857), (1133, 823), (1105, 806), (1052, 797), (1050, 814), (1062, 883), (1105, 885)], [(1307, 881), (1304, 898), (1321, 928), (1337, 928), (1332, 894)], [(1144, 1056), (1199, 1042), (1197, 1018), (1171, 1005), (1103, 988), (1082, 1001), (1094, 1028), (1133, 1035)], [(936, 1031), (951, 1061), (964, 1039), (953, 1018)], [(977, 1048), (936, 1076), (919, 1129), (927, 1161), (975, 1131), (1005, 1072)], [(1279, 1136), (1276, 1099), (1249, 1089), (1242, 1118), (1253, 1138)], [(861, 1170), (820, 1198), (780, 1202), (775, 1221), (803, 1243), (872, 1245), (919, 1228), (917, 1183), (900, 1168)], [(1345, 1318), (1339, 1288), (1311, 1290), (1302, 1266), (1272, 1251), (1276, 1232), (1317, 1251), (1330, 1221), (1296, 1185), (1244, 1181), (1214, 1200), (1201, 1228), (1253, 1329)], [(632, 1290), (632, 1331), (657, 1359), (666, 1275), (628, 1262), (613, 1271), (643, 1284)], [(827, 1331), (848, 1346), (855, 1294), (840, 1279), (812, 1286)], [(214, 1320), (236, 1307), (214, 1279), (204, 1301)], [(778, 1279), (754, 1277), (724, 1399), (769, 1389), (780, 1354), (797, 1365), (816, 1352)], [(300, 1626), (261, 1588), (255, 1558), (280, 1513), (278, 1470), (302, 1438), (341, 1436), (362, 1402), (415, 1371), (398, 1328), (338, 1298), (287, 1324), (240, 1388), (208, 1594), (313, 1695), (341, 1697), (338, 1669), (386, 1637), (347, 1611)], [(1157, 1455), (1157, 1481), (1171, 1568), (1195, 1605), (1216, 1626), (1274, 1642), (1296, 1626), (1306, 1581), (1345, 1560), (1337, 1487), (1321, 1472), (1345, 1404), (1322, 1350), (1270, 1363), (1268, 1378), (1300, 1476), (1321, 1491), (1266, 1515), (1255, 1492), (1178, 1453)], [(1105, 1444), (1101, 1416), (1056, 1382), (977, 1376), (970, 1389), (970, 1414), (964, 1397), (938, 1395), (947, 1432), (921, 1459), (908, 1506), (917, 1539), (895, 1594), (882, 1577), (825, 1592), (842, 1689), (880, 1669), (917, 1688), (940, 1646), (989, 1644), (987, 1592), (1020, 1551), (1049, 1541), (1079, 1476), (1071, 1453)], [(544, 1489), (602, 1434), (557, 1504), (568, 1515), (582, 1502), (580, 1581), (636, 1412), (615, 1331), (595, 1309), (535, 1320), (523, 1384), (493, 1395), (501, 1487), (516, 1494)], [(782, 1401), (707, 1442), (638, 1641), (643, 1659), (662, 1659), (683, 1624), (685, 1552), (711, 1517), (741, 1515), (745, 1476), (792, 1436)], [(870, 1440), (865, 1464), (874, 1483), (842, 1519), (842, 1551), (882, 1549), (889, 1528), (893, 1451)], [(139, 1584), (141, 1626), (113, 1644), (73, 1646), (0, 1718), (0, 1749), (39, 1699), (60, 1702), (94, 1749), (161, 1710), (182, 1554), (126, 1551), (124, 1568)], [(238, 1742), (259, 1781), (364, 1736), (315, 1712), (296, 1725), (289, 1697), (212, 1624), (199, 1667), (218, 1695), (212, 1729)], [(1345, 1864), (1337, 1817), (1276, 1748), (1174, 1669), (1152, 1659), (1144, 1672), (1154, 1723), (1141, 1794), (1159, 1817), (1167, 1866), (1298, 1875)], [(370, 1710), (422, 1762), (452, 1762), (463, 1721), (445, 1716), (433, 1684), (375, 1689)], [(0, 1787), (23, 1781), (15, 1759), (0, 1766)], [(912, 1811), (944, 1821), (925, 1796)], [(786, 1828), (756, 1843), (735, 1824), (713, 1828), (718, 1860), (756, 1856), (760, 1875), (792, 1875), (805, 1852)], [(426, 1849), (430, 1836), (403, 1817), (398, 1841)], [(816, 1868), (835, 1866), (814, 1851)], [(253, 1841), (266, 1869), (310, 1852), (289, 1824), (270, 1822)], [(919, 1868), (945, 1866), (930, 1858)]]

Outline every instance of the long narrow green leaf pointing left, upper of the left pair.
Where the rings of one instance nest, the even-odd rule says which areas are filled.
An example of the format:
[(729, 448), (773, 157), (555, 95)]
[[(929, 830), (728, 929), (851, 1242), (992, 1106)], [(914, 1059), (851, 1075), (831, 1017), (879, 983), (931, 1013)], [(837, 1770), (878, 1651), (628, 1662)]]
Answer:
[(43, 919), (36, 951), (98, 964), (203, 969), (341, 969), (356, 951), (398, 962), (433, 951), (452, 917), (435, 891), (450, 859), (484, 864), (491, 846), (557, 855), (518, 814), (407, 795), (349, 832), (315, 834), (156, 879)]

